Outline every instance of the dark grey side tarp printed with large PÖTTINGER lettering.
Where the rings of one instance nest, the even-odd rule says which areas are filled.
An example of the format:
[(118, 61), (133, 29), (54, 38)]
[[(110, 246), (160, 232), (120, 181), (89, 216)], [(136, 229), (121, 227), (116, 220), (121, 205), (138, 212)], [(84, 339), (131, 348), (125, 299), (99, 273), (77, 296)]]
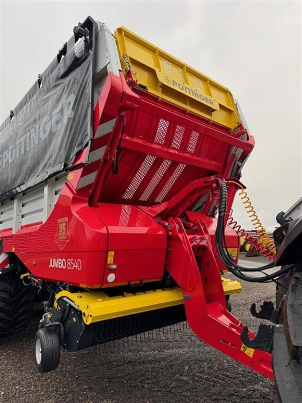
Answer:
[(62, 171), (91, 138), (92, 51), (78, 58), (74, 43), (0, 127), (0, 202)]

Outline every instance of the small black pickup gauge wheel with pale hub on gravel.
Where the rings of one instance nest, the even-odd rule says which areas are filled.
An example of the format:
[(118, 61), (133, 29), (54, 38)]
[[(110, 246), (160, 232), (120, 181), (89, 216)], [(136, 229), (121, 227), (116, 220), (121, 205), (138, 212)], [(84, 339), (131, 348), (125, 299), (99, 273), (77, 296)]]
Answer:
[(37, 331), (34, 353), (39, 372), (49, 372), (57, 368), (60, 362), (61, 343), (56, 328), (43, 327)]

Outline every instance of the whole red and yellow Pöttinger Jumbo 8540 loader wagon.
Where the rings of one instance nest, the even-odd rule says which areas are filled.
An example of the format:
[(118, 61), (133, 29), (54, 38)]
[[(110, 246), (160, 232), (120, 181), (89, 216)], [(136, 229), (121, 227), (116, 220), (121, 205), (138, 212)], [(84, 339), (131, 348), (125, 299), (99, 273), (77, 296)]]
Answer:
[[(226, 225), (253, 147), (227, 88), (125, 28), (113, 36), (90, 17), (74, 27), (1, 126), (0, 336), (27, 325), (38, 290), (40, 372), (58, 366), (61, 347), (187, 320), (201, 340), (273, 378), (274, 327), (254, 338), (230, 312), (241, 285), (223, 275), (286, 275), (297, 304), (300, 257), (255, 280), (238, 265), (242, 232)], [(278, 319), (291, 312), (290, 295), (278, 293), (279, 315), (272, 303), (254, 314), (274, 317), (291, 340), (294, 379), (301, 338)]]

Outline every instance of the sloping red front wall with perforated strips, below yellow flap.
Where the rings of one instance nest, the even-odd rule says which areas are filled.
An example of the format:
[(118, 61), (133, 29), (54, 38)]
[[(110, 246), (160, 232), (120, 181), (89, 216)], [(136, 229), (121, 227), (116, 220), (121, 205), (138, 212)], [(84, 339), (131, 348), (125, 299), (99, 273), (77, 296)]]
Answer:
[(170, 107), (140, 94), (135, 114), (125, 113), (118, 173), (108, 170), (98, 201), (154, 206), (171, 200), (193, 180), (221, 172), (227, 147), (207, 137), (211, 126), (199, 131), (200, 118)]

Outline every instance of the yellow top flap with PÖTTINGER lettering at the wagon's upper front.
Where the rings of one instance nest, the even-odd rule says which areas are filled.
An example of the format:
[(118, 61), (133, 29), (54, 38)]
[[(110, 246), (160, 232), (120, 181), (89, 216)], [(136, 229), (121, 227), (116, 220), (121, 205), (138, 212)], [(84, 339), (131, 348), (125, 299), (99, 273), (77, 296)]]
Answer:
[(240, 117), (228, 88), (124, 27), (114, 36), (123, 73), (131, 69), (138, 88), (229, 129), (238, 126)]

